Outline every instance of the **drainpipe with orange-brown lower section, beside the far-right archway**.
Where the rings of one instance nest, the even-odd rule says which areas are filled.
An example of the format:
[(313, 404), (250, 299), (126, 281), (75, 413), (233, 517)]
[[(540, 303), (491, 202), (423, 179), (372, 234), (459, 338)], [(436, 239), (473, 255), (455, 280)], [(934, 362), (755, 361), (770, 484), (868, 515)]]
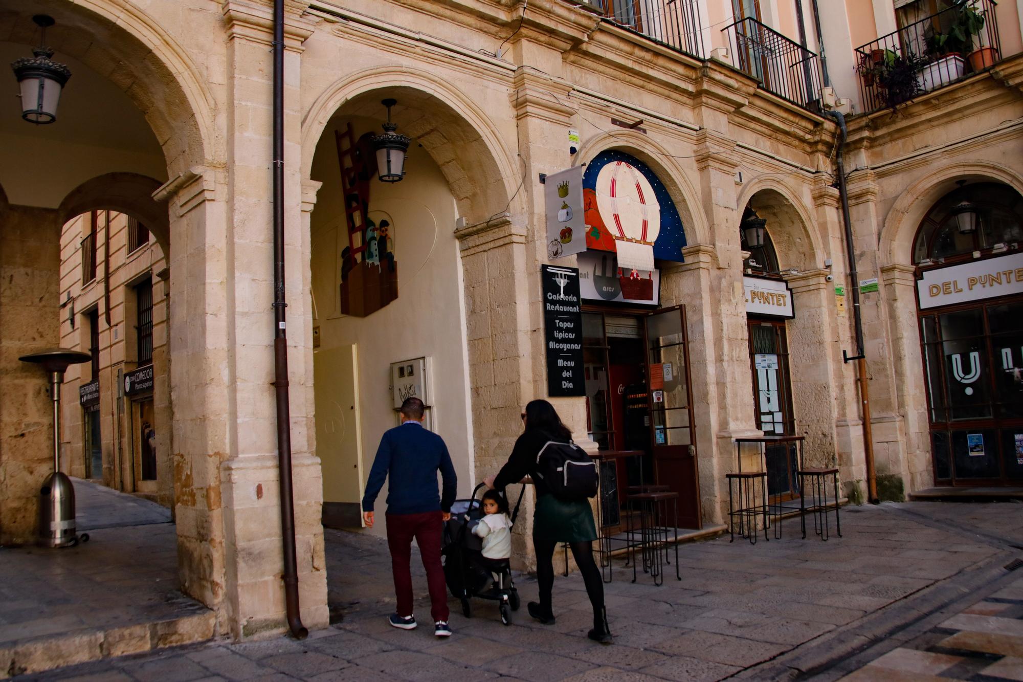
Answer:
[[(815, 1), (814, 4), (816, 4)], [(827, 73), (826, 71), (825, 74)], [(849, 219), (849, 193), (845, 184), (845, 160), (842, 156), (848, 131), (845, 127), (845, 117), (842, 116), (841, 112), (825, 110), (825, 114), (835, 119), (839, 128), (835, 162), (838, 166), (838, 193), (842, 200), (842, 222), (845, 224), (845, 251), (849, 258), (849, 289), (852, 290), (852, 318), (856, 332), (856, 354), (849, 357), (843, 350), (842, 360), (845, 363), (856, 360), (859, 397), (863, 412), (863, 459), (866, 464), (868, 496), (871, 504), (878, 504), (878, 479), (874, 470), (874, 436), (871, 430), (871, 396), (866, 377), (866, 355), (863, 353), (863, 319), (859, 310), (859, 275), (856, 272), (856, 252), (852, 242), (852, 221)]]

